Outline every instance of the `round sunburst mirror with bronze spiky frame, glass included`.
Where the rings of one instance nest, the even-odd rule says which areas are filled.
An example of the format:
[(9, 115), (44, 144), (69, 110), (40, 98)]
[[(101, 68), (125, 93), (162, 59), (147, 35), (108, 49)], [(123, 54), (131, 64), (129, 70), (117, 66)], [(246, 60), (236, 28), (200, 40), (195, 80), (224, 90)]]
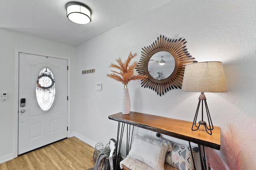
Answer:
[(197, 62), (188, 53), (185, 39), (166, 39), (160, 35), (151, 45), (142, 48), (136, 66), (139, 74), (148, 76), (141, 80), (142, 87), (160, 96), (169, 90), (181, 89), (185, 65)]

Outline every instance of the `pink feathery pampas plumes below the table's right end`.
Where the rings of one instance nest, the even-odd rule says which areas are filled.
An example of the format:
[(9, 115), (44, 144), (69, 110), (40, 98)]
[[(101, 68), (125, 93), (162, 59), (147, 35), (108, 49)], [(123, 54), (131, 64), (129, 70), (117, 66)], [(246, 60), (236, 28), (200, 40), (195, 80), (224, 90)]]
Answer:
[(205, 147), (206, 156), (209, 158), (210, 166), (213, 170), (242, 170), (242, 161), (240, 160), (240, 146), (230, 126), (228, 133), (222, 133), (220, 156), (216, 150)]

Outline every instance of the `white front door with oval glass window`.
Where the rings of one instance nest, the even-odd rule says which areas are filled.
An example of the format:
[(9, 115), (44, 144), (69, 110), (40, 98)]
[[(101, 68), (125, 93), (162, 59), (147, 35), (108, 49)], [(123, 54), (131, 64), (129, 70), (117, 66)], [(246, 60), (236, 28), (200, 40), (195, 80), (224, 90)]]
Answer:
[(18, 154), (68, 137), (68, 61), (19, 53)]

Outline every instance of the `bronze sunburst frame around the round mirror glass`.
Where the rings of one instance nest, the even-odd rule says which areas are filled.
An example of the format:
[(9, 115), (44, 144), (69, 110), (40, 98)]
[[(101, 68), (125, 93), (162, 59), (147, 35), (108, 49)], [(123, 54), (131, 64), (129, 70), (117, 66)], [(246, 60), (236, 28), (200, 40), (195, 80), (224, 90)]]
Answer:
[[(155, 43), (153, 42), (151, 46), (149, 45), (148, 47), (142, 48), (143, 51), (141, 51), (140, 61), (136, 66), (136, 71), (139, 74), (148, 76), (148, 78), (141, 80), (141, 87), (150, 88), (160, 96), (164, 95), (169, 90), (181, 89), (186, 64), (197, 62), (194, 61), (195, 58), (188, 53), (185, 45), (187, 41), (185, 41), (185, 39), (166, 39), (167, 38), (160, 35), (160, 37), (157, 37), (157, 41), (155, 41)], [(170, 53), (175, 61), (174, 71), (163, 80), (153, 78), (148, 72), (148, 62), (150, 58), (160, 51)]]

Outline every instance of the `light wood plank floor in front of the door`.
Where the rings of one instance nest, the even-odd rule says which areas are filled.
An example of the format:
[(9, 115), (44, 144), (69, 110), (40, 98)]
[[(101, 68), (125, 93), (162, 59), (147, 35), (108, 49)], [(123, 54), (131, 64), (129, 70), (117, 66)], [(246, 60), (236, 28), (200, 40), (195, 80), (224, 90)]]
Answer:
[(87, 170), (94, 148), (76, 137), (64, 139), (0, 164), (0, 170)]

